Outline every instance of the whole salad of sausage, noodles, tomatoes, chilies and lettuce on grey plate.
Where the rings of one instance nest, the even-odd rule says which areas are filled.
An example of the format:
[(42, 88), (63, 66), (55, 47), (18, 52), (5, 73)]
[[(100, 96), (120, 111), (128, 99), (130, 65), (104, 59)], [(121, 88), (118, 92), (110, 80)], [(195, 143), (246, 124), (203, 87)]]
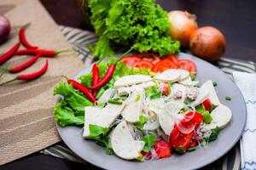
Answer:
[[(121, 61), (111, 58), (79, 77), (78, 84), (88, 91), (77, 82), (59, 82), (54, 94), (62, 99), (55, 106), (55, 120), (61, 127), (83, 127), (84, 139), (125, 160), (184, 154), (217, 139), (232, 113), (220, 103), (213, 86), (216, 83), (196, 81), (195, 63), (188, 59), (172, 55), (155, 62), (152, 54), (133, 57), (137, 60), (131, 56)], [(165, 59), (172, 60), (174, 66), (166, 65), (169, 61)], [(152, 65), (148, 67), (145, 60)], [(114, 65), (112, 73), (110, 65)], [(90, 92), (96, 94), (94, 103), (86, 94)]]

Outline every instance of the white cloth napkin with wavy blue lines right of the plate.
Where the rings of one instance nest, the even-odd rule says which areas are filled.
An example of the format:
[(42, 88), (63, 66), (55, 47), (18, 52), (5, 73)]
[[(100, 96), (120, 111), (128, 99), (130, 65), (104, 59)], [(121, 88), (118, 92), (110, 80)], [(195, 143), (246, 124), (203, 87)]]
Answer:
[(240, 140), (241, 169), (256, 169), (256, 74), (233, 72), (247, 105), (247, 122)]

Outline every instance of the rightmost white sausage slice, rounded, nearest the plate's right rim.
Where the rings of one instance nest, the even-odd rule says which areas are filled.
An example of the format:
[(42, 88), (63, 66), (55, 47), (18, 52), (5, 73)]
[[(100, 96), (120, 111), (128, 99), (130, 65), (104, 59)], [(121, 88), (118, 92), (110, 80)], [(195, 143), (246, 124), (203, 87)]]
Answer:
[(218, 105), (212, 112), (212, 122), (206, 124), (208, 128), (214, 129), (216, 127), (224, 128), (229, 124), (232, 117), (232, 111), (226, 105)]

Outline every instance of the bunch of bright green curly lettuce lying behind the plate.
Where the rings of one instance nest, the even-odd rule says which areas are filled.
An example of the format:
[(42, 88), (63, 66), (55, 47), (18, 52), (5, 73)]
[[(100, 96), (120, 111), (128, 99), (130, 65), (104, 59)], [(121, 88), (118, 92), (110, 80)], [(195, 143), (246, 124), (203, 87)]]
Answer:
[(90, 48), (94, 56), (111, 56), (112, 44), (160, 56), (179, 52), (179, 42), (168, 35), (167, 13), (154, 0), (89, 0), (88, 4), (90, 22), (100, 37)]

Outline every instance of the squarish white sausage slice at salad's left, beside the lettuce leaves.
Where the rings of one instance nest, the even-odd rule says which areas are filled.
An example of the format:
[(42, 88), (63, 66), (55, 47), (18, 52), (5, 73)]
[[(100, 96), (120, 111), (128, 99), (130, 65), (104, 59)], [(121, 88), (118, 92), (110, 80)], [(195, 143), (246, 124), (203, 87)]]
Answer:
[(108, 104), (106, 107), (97, 108), (94, 106), (84, 107), (84, 138), (90, 138), (90, 125), (110, 127), (120, 115), (125, 105)]

